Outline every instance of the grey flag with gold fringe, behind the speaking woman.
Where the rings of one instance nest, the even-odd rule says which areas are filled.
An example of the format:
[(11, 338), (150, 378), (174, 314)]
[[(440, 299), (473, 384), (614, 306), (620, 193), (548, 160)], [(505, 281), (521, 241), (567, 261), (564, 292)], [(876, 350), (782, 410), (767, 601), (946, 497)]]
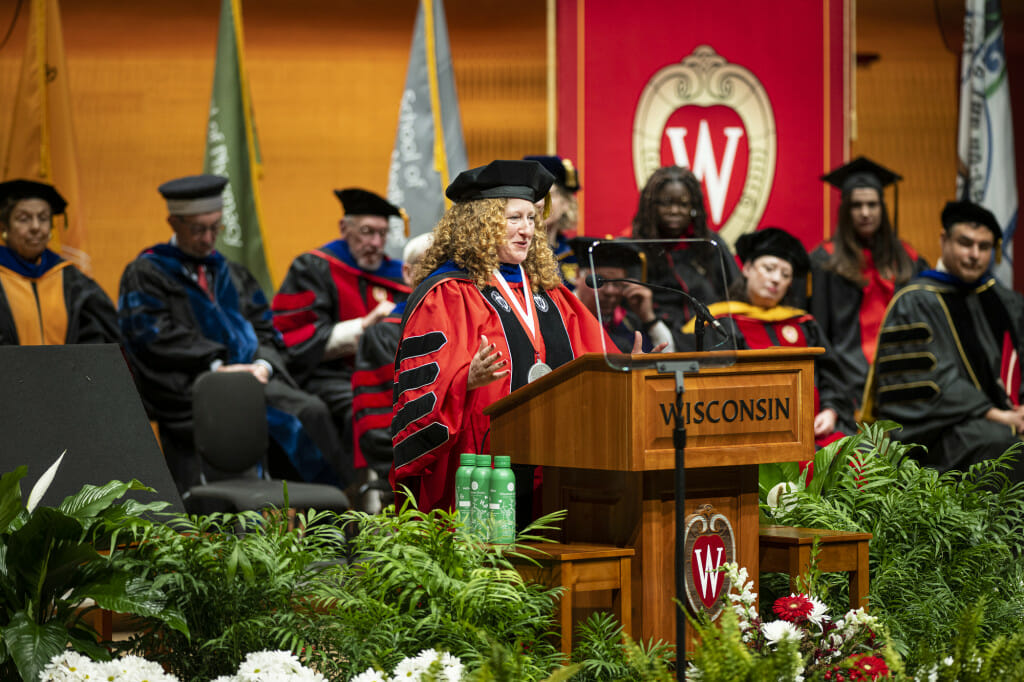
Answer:
[[(410, 236), (434, 228), (444, 188), (467, 165), (444, 6), (420, 0), (387, 185), (388, 201), (409, 214)], [(400, 253), (403, 242), (392, 229), (388, 253)]]

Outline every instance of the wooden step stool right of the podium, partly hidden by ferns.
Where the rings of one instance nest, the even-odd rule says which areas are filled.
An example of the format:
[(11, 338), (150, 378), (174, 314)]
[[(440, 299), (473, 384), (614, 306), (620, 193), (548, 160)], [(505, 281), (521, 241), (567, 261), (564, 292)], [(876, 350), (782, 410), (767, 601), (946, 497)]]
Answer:
[(797, 577), (811, 564), (811, 546), (818, 539), (818, 570), (849, 571), (850, 606), (867, 610), (867, 543), (869, 532), (795, 528), (787, 525), (762, 525), (758, 547), (763, 573), (788, 573), (790, 587), (797, 591)]

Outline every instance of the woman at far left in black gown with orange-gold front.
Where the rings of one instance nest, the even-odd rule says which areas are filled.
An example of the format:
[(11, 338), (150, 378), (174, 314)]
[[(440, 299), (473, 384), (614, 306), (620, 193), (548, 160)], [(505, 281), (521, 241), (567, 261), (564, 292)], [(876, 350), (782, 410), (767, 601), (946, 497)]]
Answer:
[(0, 344), (118, 343), (114, 303), (47, 248), (68, 202), (53, 186), (0, 182)]

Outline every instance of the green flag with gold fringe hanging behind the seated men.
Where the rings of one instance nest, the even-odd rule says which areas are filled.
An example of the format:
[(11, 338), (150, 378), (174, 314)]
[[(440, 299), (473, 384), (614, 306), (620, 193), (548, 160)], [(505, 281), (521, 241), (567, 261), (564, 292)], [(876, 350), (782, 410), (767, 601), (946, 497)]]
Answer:
[(241, 0), (221, 0), (203, 170), (228, 179), (224, 231), (217, 239), (217, 250), (248, 267), (270, 298), (273, 280), (263, 248), (259, 142), (243, 60), (244, 44)]

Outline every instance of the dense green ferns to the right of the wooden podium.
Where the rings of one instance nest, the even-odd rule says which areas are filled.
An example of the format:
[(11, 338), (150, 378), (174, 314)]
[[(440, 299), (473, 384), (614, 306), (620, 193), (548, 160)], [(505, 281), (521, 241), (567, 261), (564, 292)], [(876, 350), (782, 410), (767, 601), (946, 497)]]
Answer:
[[(1017, 446), (967, 471), (939, 474), (909, 457), (913, 445), (889, 437), (895, 426), (864, 426), (822, 449), (811, 484), (786, 498), (793, 506), (763, 512), (786, 525), (872, 534), (871, 612), (913, 665), (921, 651), (944, 648), (959, 614), (983, 597), (985, 637), (1012, 635), (1024, 622), (1024, 485), (1006, 474)], [(795, 470), (763, 468), (762, 489), (798, 481)], [(822, 579), (829, 606), (844, 603), (846, 577)], [(774, 585), (765, 581), (762, 594)]]

